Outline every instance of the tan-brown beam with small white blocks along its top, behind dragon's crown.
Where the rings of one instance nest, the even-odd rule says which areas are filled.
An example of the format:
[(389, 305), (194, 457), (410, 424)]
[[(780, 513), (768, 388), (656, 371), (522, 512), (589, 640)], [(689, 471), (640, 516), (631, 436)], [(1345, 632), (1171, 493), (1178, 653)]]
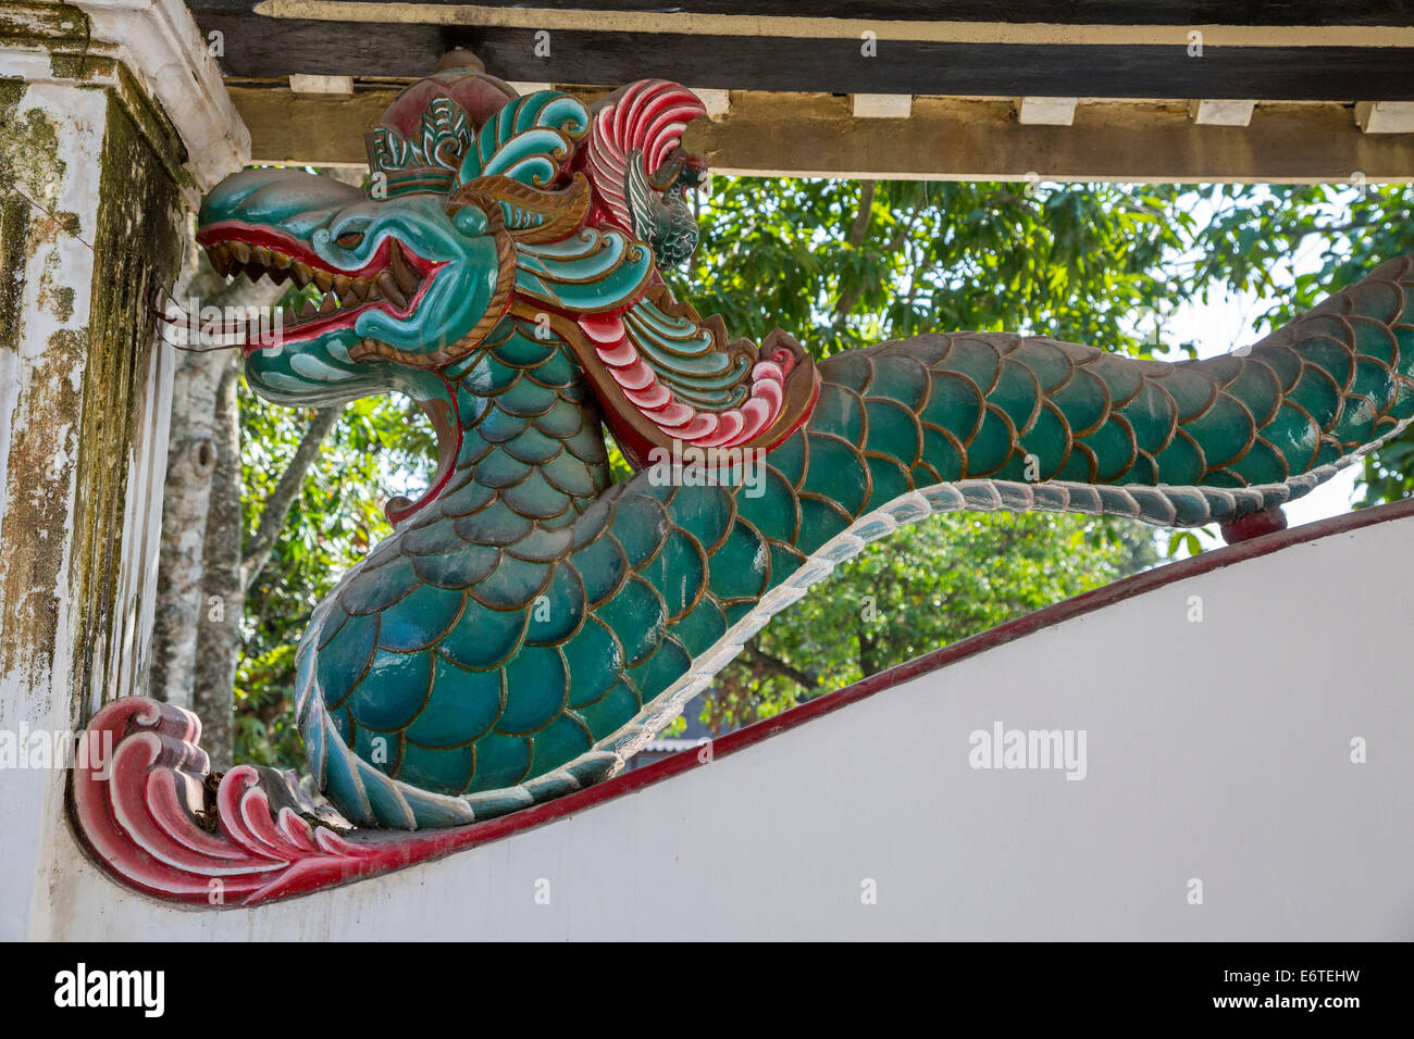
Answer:
[[(563, 86), (563, 85), (561, 85)], [(396, 86), (351, 98), (232, 83), (255, 161), (359, 165)], [(575, 90), (585, 100), (604, 93)], [(1072, 126), (1024, 126), (1011, 99), (915, 98), (909, 119), (855, 119), (848, 98), (731, 92), (684, 144), (713, 170), (919, 180), (1414, 181), (1414, 134), (1362, 133), (1349, 105), (1261, 103), (1246, 127), (1195, 123), (1186, 100), (1082, 102)]]

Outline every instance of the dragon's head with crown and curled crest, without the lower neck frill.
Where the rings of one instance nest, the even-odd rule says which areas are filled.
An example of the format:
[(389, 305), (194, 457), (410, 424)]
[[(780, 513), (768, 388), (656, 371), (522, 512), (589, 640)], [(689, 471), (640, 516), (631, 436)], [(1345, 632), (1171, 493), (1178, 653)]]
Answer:
[(694, 222), (676, 225), (701, 164), (679, 141), (703, 107), (680, 86), (645, 86), (597, 106), (590, 140), (578, 100), (518, 96), (454, 51), (369, 134), (365, 189), (284, 168), (222, 181), (198, 219), (216, 271), (301, 290), (279, 335), (247, 346), (250, 386), (338, 403), (426, 385), (407, 369), (465, 358), (516, 298), (571, 321), (626, 310), (656, 280), (655, 245), (682, 259), (689, 230), (696, 243)]

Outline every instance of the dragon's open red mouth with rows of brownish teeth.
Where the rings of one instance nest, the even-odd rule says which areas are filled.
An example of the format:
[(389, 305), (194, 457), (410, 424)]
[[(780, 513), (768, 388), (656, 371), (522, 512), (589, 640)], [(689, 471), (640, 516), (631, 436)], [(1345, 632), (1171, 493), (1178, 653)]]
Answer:
[[(363, 311), (382, 308), (406, 318), (420, 301), (437, 266), (423, 260), (396, 239), (387, 237), (372, 259), (358, 270), (338, 270), (294, 237), (267, 228), (225, 222), (205, 228), (198, 243), (206, 250), (218, 274), (252, 281), (262, 277), (274, 284), (293, 281), (297, 288), (312, 286), (317, 298), (305, 298), (281, 314), (283, 339), (312, 339), (338, 328), (352, 328)], [(247, 352), (256, 349), (252, 344)]]

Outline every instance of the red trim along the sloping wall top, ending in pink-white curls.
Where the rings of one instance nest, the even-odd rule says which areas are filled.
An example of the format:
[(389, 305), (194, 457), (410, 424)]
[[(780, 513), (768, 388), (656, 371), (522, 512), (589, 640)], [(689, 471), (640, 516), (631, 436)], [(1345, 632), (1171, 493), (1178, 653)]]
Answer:
[[(1414, 500), (1397, 502), (1253, 537), (1116, 581), (721, 736), (713, 741), (710, 761), (725, 758), (1042, 628), (1135, 595), (1297, 544), (1410, 517), (1414, 517)], [(134, 720), (146, 720), (136, 738)], [(700, 751), (682, 751), (585, 790), (486, 823), (419, 833), (356, 830), (345, 838), (334, 838), (327, 831), (315, 833), (288, 809), (273, 824), (264, 821), (269, 818), (269, 803), (256, 772), (249, 766), (239, 766), (226, 773), (221, 785), (219, 833), (204, 835), (192, 826), (189, 809), (181, 807), (180, 796), (180, 790), (185, 789), (181, 786), (181, 776), (199, 780), (206, 770), (205, 755), (197, 746), (199, 725), (195, 715), (127, 698), (105, 707), (89, 731), (103, 728), (113, 731), (119, 741), (112, 776), (89, 776), (82, 769), (71, 773), (71, 797), (79, 835), (90, 854), (130, 886), (157, 898), (188, 903), (206, 902), (211, 876), (225, 878), (226, 905), (249, 906), (400, 869), (553, 823), (706, 763), (699, 759)]]

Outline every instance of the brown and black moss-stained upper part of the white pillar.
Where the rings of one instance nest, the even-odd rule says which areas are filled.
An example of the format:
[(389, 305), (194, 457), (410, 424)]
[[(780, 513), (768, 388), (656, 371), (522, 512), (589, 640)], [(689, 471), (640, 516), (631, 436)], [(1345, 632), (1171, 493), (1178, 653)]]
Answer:
[[(75, 106), (41, 105), (27, 82), (0, 79), (0, 351), (23, 358), (18, 397), (4, 416), (0, 670), (27, 676), (38, 691), (68, 663), (71, 684), (52, 694), (71, 697), (82, 721), (89, 703), (129, 690), (134, 677), (113, 669), (132, 659), (123, 646), (134, 604), (120, 581), (143, 563), (123, 557), (123, 527), (154, 389), (148, 307), (153, 287), (175, 278), (194, 184), (170, 119), (112, 55), (92, 52), (82, 11), (0, 0), (4, 42), (48, 51), (52, 75), (69, 81), (58, 89), (71, 89)], [(58, 96), (54, 89), (47, 98)], [(62, 202), (74, 198), (76, 172), (66, 161), (93, 151), (92, 143), (74, 147), (92, 130), (69, 115), (92, 120), (95, 109), (103, 115), (98, 198)], [(61, 204), (79, 212), (61, 212)], [(92, 264), (78, 263), (89, 246)], [(140, 510), (157, 507), (143, 502)], [(65, 604), (71, 638), (61, 643)]]

